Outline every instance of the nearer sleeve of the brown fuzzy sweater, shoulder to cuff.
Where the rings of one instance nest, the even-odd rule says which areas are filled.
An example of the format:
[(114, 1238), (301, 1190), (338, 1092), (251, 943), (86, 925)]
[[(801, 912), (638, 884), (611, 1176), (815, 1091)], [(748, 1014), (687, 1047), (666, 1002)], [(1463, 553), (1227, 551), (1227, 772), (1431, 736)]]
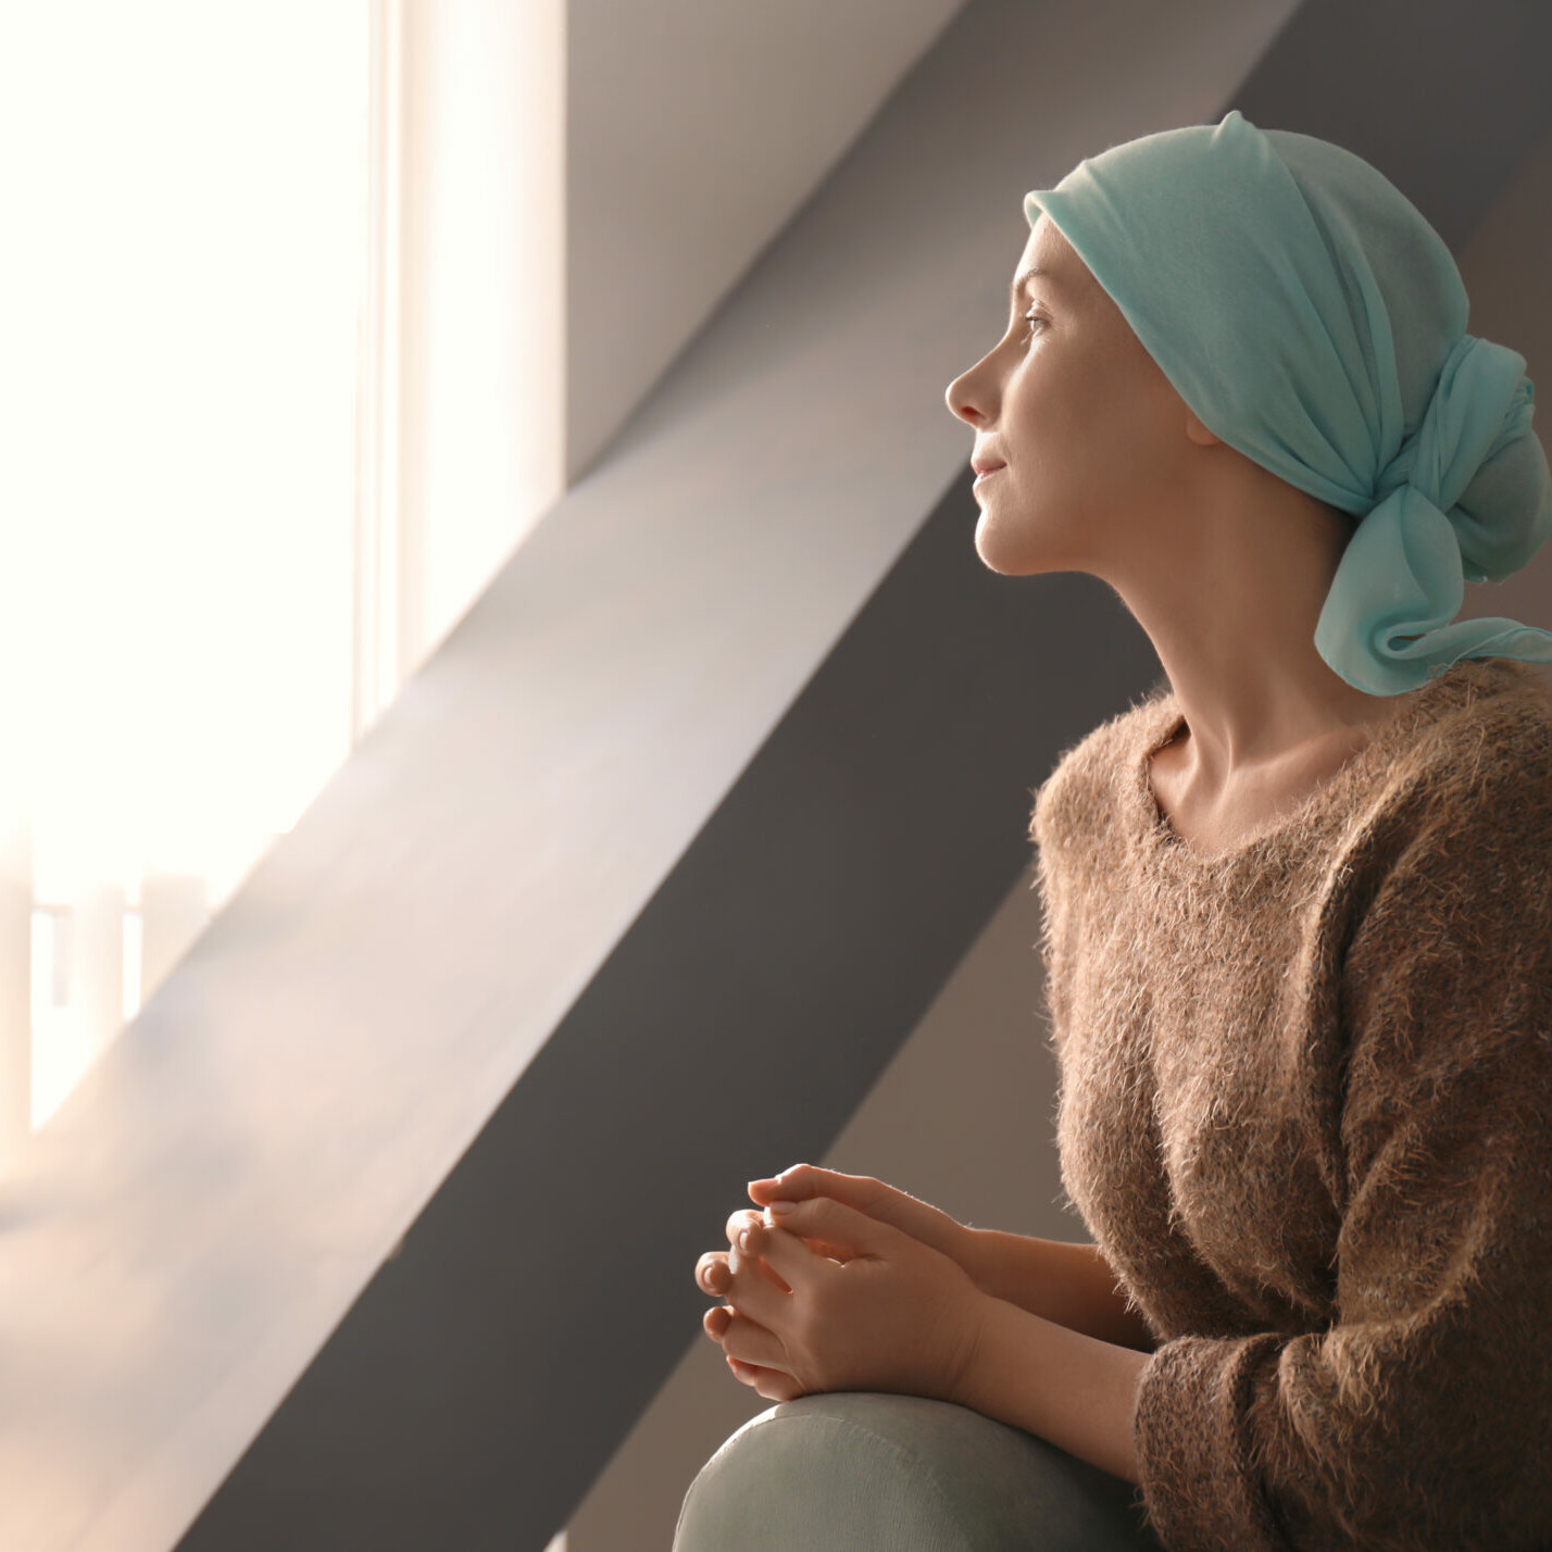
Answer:
[(1453, 807), (1392, 847), (1341, 967), (1329, 1325), (1142, 1370), (1170, 1552), (1552, 1546), (1552, 759)]

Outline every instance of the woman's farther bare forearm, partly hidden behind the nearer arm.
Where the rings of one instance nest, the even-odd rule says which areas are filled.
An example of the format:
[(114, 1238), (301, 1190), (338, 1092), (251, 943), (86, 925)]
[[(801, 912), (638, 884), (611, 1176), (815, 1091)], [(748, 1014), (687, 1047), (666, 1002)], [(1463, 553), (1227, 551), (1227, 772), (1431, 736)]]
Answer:
[(1097, 1245), (1068, 1245), (1001, 1229), (970, 1229), (965, 1270), (995, 1299), (1031, 1315), (1136, 1352), (1156, 1342), (1142, 1316), (1127, 1308), (1110, 1263)]

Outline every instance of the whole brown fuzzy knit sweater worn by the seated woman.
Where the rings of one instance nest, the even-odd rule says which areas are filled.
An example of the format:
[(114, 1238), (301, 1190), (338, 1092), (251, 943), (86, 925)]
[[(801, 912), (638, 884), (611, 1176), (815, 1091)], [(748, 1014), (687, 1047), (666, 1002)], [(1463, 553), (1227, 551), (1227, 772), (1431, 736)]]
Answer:
[(1035, 793), (1062, 1181), (1170, 1552), (1552, 1547), (1552, 695), (1465, 660), (1215, 854), (1166, 683)]

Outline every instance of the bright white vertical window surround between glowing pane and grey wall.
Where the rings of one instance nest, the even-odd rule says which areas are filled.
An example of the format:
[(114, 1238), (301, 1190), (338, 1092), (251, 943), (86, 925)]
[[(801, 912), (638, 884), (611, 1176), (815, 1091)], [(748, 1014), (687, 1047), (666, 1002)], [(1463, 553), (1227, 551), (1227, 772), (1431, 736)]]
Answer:
[(565, 490), (566, 6), (393, 9), (402, 680)]

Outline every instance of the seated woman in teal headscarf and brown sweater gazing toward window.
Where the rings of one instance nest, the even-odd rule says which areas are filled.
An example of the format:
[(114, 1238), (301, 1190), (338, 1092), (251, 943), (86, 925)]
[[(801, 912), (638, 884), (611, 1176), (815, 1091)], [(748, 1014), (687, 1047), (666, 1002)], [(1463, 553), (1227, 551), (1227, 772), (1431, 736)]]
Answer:
[(1552, 1544), (1552, 534), (1516, 352), (1361, 158), (1231, 112), (1024, 202), (948, 388), (995, 571), (1166, 678), (1035, 798), (1094, 1243), (798, 1166), (697, 1280), (774, 1405), (675, 1547)]

